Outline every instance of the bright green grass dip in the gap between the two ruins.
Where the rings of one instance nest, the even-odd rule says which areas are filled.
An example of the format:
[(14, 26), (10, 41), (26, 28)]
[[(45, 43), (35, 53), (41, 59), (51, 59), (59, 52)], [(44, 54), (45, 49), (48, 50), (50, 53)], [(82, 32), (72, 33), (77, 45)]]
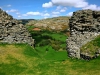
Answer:
[(55, 51), (51, 46), (37, 47), (36, 51), (38, 54), (47, 60), (66, 60), (66, 51)]

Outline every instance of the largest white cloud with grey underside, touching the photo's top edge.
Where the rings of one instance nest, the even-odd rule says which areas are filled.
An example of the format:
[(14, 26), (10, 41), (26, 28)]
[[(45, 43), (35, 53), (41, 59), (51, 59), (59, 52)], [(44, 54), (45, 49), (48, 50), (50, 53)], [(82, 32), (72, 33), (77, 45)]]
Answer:
[[(51, 0), (51, 2), (44, 3), (42, 7), (52, 7), (52, 6), (72, 6), (76, 8), (83, 8), (88, 5), (85, 0)], [(59, 8), (59, 7), (58, 7)]]

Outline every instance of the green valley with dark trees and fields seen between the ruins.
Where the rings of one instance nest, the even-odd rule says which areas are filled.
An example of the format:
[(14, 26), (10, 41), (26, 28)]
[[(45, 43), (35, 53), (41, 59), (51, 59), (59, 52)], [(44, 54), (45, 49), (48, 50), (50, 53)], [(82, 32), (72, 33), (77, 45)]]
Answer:
[(36, 47), (41, 46), (49, 46), (58, 51), (58, 50), (66, 50), (66, 38), (67, 36), (64, 33), (56, 33), (47, 30), (43, 30), (41, 32), (30, 32), (32, 37), (35, 39)]

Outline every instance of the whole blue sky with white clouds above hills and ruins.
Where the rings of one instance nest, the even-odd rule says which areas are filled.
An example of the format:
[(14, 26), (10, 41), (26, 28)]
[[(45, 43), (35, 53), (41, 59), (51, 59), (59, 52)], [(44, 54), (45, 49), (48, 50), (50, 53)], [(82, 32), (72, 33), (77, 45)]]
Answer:
[(77, 10), (100, 10), (99, 0), (0, 0), (0, 8), (16, 19), (72, 16)]

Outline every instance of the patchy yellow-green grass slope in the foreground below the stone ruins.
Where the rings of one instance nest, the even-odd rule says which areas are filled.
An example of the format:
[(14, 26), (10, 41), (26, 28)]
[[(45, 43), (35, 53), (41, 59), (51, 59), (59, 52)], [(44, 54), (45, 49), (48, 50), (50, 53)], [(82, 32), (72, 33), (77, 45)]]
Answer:
[(29, 45), (0, 45), (0, 75), (100, 75), (100, 57), (70, 59), (66, 52), (32, 49)]

